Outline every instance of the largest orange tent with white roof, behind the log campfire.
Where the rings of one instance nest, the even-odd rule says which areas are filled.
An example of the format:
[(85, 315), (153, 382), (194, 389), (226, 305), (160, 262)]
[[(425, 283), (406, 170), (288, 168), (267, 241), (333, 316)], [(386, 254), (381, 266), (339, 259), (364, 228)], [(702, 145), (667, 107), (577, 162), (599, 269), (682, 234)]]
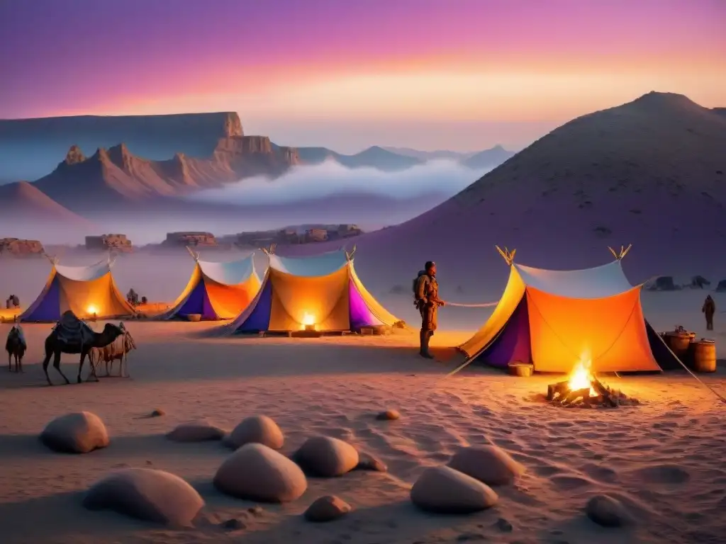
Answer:
[(576, 271), (513, 263), (494, 313), (459, 346), (468, 360), (505, 368), (533, 363), (535, 371), (569, 372), (585, 357), (592, 370), (658, 371), (680, 366), (650, 327), (620, 259)]

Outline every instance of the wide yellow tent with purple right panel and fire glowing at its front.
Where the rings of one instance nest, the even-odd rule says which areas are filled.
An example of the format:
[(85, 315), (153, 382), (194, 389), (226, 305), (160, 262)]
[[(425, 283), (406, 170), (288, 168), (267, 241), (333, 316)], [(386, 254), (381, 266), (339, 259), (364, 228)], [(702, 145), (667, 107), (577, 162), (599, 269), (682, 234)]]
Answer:
[(356, 331), (396, 321), (364, 287), (344, 250), (301, 258), (269, 255), (257, 297), (229, 325), (229, 333), (295, 331), (306, 325)]

